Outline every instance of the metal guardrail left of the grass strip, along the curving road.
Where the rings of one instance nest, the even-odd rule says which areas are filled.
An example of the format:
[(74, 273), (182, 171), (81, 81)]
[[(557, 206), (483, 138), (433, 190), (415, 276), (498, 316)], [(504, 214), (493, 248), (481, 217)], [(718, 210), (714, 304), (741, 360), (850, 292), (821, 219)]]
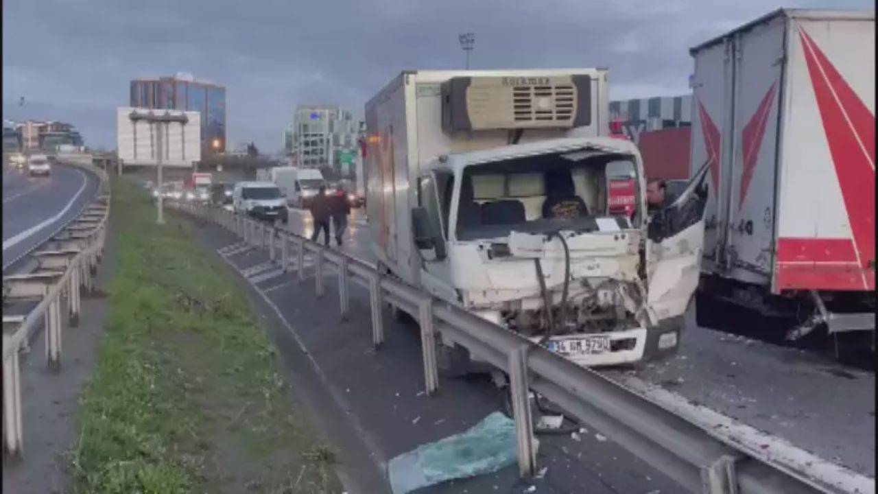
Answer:
[[(71, 164), (100, 179), (96, 199), (40, 244), (40, 250), (30, 251), (37, 263), (33, 272), (3, 278), (3, 439), (4, 451), (11, 455), (21, 454), (24, 441), (19, 352), (29, 350), (34, 331), (45, 329), (47, 365), (56, 372), (61, 370), (62, 305), (66, 305), (63, 310), (68, 314), (68, 326), (77, 326), (83, 288), (94, 290), (93, 277), (104, 253), (110, 215), (107, 175), (89, 165)], [(26, 314), (7, 310), (7, 304), (33, 301), (38, 302), (36, 307)]]

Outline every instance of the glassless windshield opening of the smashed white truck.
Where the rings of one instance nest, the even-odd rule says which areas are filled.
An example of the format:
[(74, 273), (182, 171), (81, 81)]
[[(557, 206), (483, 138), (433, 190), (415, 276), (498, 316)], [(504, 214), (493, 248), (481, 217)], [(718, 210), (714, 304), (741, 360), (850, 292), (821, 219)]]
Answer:
[[(631, 228), (637, 208), (634, 158), (616, 153), (526, 156), (464, 169), (457, 239), (522, 231), (599, 230), (599, 218)], [(630, 186), (621, 186), (621, 182)], [(625, 207), (620, 207), (624, 205)]]

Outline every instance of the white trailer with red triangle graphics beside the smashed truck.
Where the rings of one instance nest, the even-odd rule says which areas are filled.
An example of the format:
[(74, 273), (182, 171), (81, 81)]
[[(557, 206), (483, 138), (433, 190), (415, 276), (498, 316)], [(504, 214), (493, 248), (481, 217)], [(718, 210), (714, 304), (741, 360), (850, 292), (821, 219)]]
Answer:
[(855, 331), (874, 351), (874, 39), (874, 13), (780, 10), (692, 48), (698, 308), (797, 315), (788, 339)]

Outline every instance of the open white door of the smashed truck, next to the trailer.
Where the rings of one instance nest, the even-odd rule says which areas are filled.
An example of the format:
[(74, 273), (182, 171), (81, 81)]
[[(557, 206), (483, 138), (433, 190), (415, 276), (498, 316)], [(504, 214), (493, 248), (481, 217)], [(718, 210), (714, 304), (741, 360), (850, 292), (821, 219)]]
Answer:
[(653, 323), (682, 316), (698, 287), (704, 210), (708, 201), (705, 177), (709, 164), (709, 160), (703, 163), (680, 197), (650, 218), (646, 240), (646, 305)]

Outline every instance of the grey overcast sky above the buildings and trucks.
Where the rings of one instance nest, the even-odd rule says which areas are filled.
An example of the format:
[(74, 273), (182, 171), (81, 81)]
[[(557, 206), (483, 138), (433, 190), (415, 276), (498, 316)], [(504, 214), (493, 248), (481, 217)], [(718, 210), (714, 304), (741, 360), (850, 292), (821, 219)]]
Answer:
[[(783, 6), (873, 9), (871, 0)], [(610, 69), (610, 98), (684, 94), (687, 48), (781, 6), (735, 0), (3, 0), (5, 119), (65, 120), (115, 149), (137, 76), (227, 87), (227, 139), (283, 146), (298, 104), (363, 115), (402, 69)], [(18, 105), (19, 98), (25, 104)]]

